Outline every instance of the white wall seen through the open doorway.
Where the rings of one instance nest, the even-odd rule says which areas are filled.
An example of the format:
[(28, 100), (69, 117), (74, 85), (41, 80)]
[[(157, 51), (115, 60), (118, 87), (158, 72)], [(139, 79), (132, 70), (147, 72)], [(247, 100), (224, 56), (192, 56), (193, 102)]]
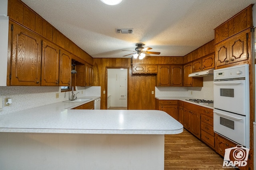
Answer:
[[(108, 95), (111, 95), (110, 107), (127, 107), (127, 74), (127, 69), (108, 69)], [(126, 77), (125, 82), (120, 77)], [(121, 82), (125, 83), (125, 87), (120, 87)], [(122, 94), (126, 95), (125, 99), (120, 99)]]

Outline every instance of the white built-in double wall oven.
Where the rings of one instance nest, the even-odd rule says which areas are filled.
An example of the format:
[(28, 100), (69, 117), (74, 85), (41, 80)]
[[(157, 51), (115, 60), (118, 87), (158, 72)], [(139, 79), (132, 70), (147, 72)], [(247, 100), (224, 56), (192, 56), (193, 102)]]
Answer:
[(214, 131), (249, 147), (249, 65), (214, 70)]

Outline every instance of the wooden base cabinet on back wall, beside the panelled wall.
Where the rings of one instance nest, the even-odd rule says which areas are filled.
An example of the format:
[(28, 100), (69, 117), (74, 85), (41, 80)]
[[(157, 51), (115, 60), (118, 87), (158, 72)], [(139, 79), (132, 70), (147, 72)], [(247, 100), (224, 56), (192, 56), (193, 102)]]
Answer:
[(156, 110), (164, 111), (174, 119), (178, 120), (178, 100), (156, 99)]

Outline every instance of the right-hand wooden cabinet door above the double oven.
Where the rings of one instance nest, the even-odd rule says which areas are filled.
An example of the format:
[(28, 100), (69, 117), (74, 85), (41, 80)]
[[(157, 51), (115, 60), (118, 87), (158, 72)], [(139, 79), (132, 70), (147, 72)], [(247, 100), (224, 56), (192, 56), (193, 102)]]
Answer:
[(230, 63), (243, 61), (247, 59), (248, 47), (248, 33), (242, 34), (240, 36), (235, 36), (230, 39)]

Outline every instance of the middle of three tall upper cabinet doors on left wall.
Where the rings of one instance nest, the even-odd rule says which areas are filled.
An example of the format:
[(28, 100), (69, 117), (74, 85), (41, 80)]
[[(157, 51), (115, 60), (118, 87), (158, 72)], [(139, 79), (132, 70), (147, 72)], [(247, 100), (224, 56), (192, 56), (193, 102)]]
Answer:
[(41, 85), (59, 85), (59, 61), (60, 48), (50, 42), (43, 41)]

